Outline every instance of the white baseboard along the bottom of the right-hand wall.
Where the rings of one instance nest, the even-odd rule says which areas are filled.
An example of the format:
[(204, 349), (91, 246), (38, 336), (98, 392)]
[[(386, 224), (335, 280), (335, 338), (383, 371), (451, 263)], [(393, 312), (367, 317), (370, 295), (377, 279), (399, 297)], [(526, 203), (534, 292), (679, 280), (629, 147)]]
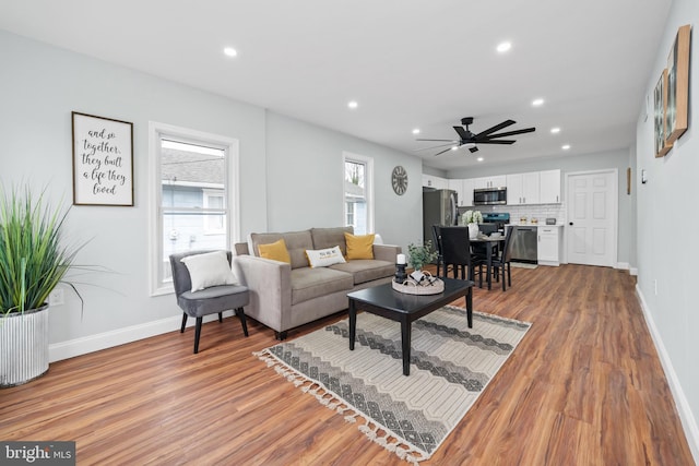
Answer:
[(655, 322), (653, 321), (653, 318), (645, 303), (645, 299), (643, 298), (643, 294), (641, 292), (641, 289), (638, 285), (636, 285), (636, 295), (638, 296), (641, 303), (643, 316), (645, 318), (645, 323), (648, 324), (648, 328), (651, 332), (651, 337), (653, 338), (653, 343), (655, 344), (655, 349), (657, 349), (660, 362), (663, 366), (665, 377), (667, 378), (667, 383), (670, 384), (670, 391), (673, 393), (673, 398), (675, 399), (675, 405), (677, 406), (677, 411), (679, 413), (679, 420), (682, 421), (682, 426), (685, 430), (687, 443), (689, 443), (689, 450), (691, 450), (691, 455), (695, 458), (695, 463), (699, 464), (699, 427), (697, 426), (697, 419), (691, 413), (689, 402), (687, 402), (685, 392), (679, 384), (679, 380), (677, 379), (677, 373), (675, 372), (672, 360), (670, 359), (670, 355), (667, 355), (665, 345), (663, 345), (663, 340), (660, 336), (660, 333), (657, 332)]

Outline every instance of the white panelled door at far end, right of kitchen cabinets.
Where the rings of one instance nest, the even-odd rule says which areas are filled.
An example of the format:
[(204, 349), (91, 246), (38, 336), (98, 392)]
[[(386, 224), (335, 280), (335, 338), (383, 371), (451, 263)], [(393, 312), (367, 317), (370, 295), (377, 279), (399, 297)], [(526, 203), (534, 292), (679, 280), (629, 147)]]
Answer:
[(567, 175), (568, 262), (614, 266), (617, 243), (616, 170)]

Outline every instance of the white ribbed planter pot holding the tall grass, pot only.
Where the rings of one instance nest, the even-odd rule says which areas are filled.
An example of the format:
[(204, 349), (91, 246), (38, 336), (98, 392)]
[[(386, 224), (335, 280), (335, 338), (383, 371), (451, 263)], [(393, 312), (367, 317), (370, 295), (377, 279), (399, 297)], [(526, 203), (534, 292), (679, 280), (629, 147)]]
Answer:
[(48, 371), (48, 304), (0, 318), (0, 387), (20, 385)]

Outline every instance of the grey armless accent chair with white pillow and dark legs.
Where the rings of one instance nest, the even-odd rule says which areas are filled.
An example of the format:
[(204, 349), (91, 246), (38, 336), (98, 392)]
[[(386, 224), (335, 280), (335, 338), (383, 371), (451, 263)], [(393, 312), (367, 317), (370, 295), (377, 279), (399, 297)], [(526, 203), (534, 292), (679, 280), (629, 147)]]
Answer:
[[(202, 250), (178, 252), (169, 256), (177, 306), (183, 311), (180, 333), (185, 332), (189, 315), (197, 319), (194, 354), (199, 353), (204, 315), (217, 313), (218, 322), (223, 322), (223, 311), (235, 310), (242, 333), (248, 336), (242, 307), (249, 303), (250, 292), (247, 287), (235, 283), (230, 272), (232, 255), (230, 251)], [(193, 266), (193, 261), (199, 262), (198, 267)]]

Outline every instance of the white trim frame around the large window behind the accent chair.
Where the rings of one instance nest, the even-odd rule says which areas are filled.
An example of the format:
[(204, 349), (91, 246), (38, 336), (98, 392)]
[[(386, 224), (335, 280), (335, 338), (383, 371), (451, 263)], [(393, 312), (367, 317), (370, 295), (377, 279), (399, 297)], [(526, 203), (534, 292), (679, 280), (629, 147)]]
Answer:
[(149, 121), (149, 282), (151, 296), (174, 292), (171, 283), (159, 283), (159, 266), (163, 251), (163, 228), (159, 220), (162, 206), (161, 139), (179, 140), (186, 143), (214, 146), (226, 153), (225, 203), (228, 206), (226, 225), (227, 249), (240, 240), (240, 174), (238, 140), (157, 121)]

